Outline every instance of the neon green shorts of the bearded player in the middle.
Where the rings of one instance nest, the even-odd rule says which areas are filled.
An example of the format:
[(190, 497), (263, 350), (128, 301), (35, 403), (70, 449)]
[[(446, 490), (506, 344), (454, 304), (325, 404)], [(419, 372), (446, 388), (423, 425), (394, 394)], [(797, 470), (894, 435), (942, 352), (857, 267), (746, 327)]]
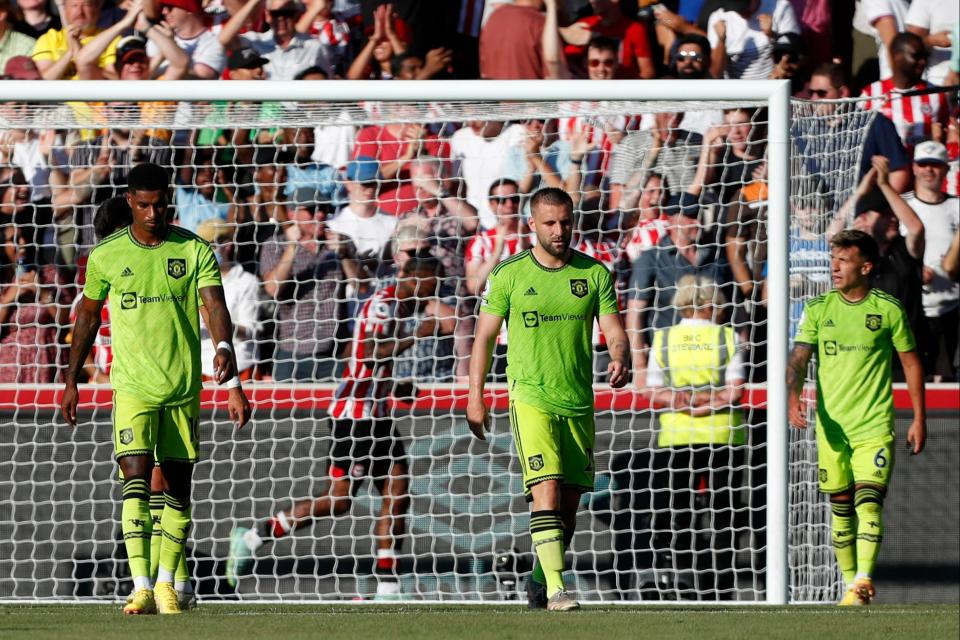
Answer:
[(593, 414), (569, 417), (510, 401), (513, 444), (523, 470), (524, 495), (544, 480), (593, 491)]

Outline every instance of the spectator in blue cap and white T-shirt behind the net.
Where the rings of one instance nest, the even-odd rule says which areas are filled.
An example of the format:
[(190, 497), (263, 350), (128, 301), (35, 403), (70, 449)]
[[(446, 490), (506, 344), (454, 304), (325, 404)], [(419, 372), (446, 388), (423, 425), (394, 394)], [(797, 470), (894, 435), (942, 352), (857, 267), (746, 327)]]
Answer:
[(390, 238), (397, 219), (377, 207), (380, 173), (376, 160), (357, 158), (347, 165), (344, 176), (349, 201), (327, 227), (339, 236), (340, 252), (359, 261), (356, 286), (359, 297), (364, 298), (368, 292), (367, 280), (386, 272)]

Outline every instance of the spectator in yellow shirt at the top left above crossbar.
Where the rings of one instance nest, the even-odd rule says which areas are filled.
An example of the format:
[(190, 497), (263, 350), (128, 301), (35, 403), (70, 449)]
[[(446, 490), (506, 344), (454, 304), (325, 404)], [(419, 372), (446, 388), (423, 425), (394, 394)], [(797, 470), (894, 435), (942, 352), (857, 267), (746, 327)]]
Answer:
[[(37, 39), (33, 48), (33, 61), (43, 74), (44, 80), (75, 80), (77, 69), (74, 56), (102, 29), (97, 26), (103, 0), (66, 0), (67, 26), (51, 29)], [(139, 6), (137, 10), (139, 10)], [(113, 63), (116, 58), (116, 43), (111, 43), (100, 55), (97, 66), (104, 76), (115, 78)]]

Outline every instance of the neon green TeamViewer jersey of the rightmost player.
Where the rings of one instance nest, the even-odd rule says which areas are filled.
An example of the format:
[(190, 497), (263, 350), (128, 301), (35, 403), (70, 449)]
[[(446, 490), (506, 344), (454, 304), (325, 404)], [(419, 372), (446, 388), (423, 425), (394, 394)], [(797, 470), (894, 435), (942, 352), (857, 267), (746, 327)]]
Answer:
[(893, 350), (916, 347), (900, 302), (871, 289), (848, 302), (839, 291), (809, 300), (796, 342), (817, 350), (817, 427), (865, 440), (893, 431)]

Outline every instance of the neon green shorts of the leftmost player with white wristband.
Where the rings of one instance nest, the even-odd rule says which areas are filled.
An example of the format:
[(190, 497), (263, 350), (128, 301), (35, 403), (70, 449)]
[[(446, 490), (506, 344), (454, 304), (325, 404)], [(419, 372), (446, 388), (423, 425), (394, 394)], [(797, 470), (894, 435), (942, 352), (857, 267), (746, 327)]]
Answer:
[(200, 397), (178, 406), (146, 404), (113, 392), (114, 457), (154, 455), (157, 462), (196, 462), (200, 451)]

